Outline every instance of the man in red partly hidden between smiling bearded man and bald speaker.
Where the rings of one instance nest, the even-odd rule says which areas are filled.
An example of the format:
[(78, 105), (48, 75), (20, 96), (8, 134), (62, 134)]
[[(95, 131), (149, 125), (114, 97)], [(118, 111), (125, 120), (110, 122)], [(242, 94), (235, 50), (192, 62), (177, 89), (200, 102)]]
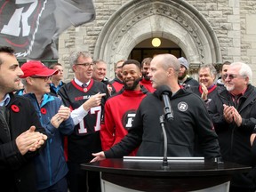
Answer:
[(140, 80), (140, 84), (143, 85), (149, 92), (155, 92), (156, 89), (152, 87), (152, 83), (150, 81), (150, 77), (148, 76), (150, 70), (150, 62), (152, 58), (145, 58), (141, 62), (141, 73), (142, 77)]

